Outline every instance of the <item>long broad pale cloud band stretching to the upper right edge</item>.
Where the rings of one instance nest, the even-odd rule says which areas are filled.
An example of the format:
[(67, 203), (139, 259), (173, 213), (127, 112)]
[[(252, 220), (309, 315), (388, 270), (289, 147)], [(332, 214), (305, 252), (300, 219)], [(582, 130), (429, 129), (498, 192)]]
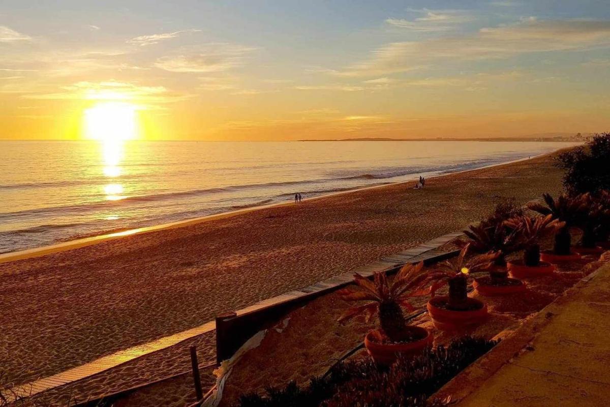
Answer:
[(536, 20), (480, 29), (475, 34), (389, 43), (373, 57), (341, 72), (373, 76), (415, 70), (439, 60), (505, 58), (526, 52), (610, 46), (610, 21)]

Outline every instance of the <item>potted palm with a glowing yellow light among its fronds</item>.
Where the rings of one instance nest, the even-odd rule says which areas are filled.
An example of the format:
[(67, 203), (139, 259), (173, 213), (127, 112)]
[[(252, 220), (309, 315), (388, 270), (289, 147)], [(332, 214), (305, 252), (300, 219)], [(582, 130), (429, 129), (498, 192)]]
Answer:
[[(470, 245), (465, 245), (455, 261), (443, 262), (428, 277), (428, 281), (432, 282), (429, 287), (432, 298), (426, 308), (434, 326), (439, 330), (465, 328), (477, 325), (487, 318), (487, 306), (483, 301), (468, 297), (468, 276), (490, 267), (498, 253), (481, 254), (466, 261), (469, 248)], [(448, 295), (435, 296), (436, 291), (446, 284), (449, 286)]]

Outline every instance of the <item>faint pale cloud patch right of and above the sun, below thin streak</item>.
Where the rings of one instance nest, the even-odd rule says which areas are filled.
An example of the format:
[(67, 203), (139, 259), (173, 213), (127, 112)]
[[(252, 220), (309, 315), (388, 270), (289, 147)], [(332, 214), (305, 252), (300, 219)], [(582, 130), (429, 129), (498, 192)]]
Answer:
[(210, 43), (182, 48), (177, 54), (157, 59), (154, 65), (171, 72), (220, 72), (242, 65), (253, 47), (230, 43)]

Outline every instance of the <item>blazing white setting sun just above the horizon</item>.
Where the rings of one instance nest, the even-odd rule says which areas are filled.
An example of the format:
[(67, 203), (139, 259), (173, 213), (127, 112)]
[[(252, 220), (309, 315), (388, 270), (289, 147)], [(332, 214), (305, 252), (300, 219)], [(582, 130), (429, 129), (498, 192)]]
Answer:
[(135, 106), (122, 102), (98, 103), (85, 110), (87, 137), (93, 140), (131, 140), (136, 136)]

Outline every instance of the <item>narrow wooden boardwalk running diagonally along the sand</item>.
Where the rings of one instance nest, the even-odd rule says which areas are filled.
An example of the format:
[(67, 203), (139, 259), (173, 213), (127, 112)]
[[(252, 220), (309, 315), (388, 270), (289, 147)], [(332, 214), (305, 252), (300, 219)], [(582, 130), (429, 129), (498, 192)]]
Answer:
[[(262, 308), (273, 307), (288, 301), (295, 301), (302, 297), (308, 297), (312, 294), (322, 294), (323, 292), (335, 290), (339, 287), (350, 284), (353, 281), (354, 273), (359, 273), (363, 276), (371, 276), (375, 272), (392, 270), (393, 268), (406, 264), (407, 262), (414, 263), (436, 258), (439, 256), (439, 254), (442, 254), (437, 250), (437, 248), (453, 239), (456, 239), (456, 237), (459, 236), (462, 236), (462, 232), (445, 234), (417, 247), (409, 248), (401, 253), (386, 256), (379, 261), (355, 268), (354, 270), (350, 270), (350, 272), (342, 273), (340, 275), (325, 279), (324, 281), (303, 287), (302, 289), (293, 290), (273, 298), (268, 298), (267, 300), (259, 301), (256, 304), (235, 312), (238, 316), (244, 315), (248, 314), (249, 312), (259, 311)], [(11, 402), (18, 400), (19, 398), (40, 394), (41, 392), (45, 392), (59, 386), (84, 380), (98, 373), (112, 369), (113, 367), (117, 367), (121, 364), (132, 361), (136, 358), (166, 349), (168, 347), (177, 345), (184, 340), (199, 336), (201, 334), (209, 333), (213, 330), (215, 330), (215, 321), (210, 321), (204, 323), (203, 325), (196, 326), (195, 328), (191, 328), (190, 330), (162, 337), (146, 344), (136, 345), (134, 347), (113, 353), (112, 355), (103, 356), (95, 361), (65, 370), (64, 372), (60, 372), (52, 376), (41, 378), (30, 383), (21, 384), (9, 389), (2, 389), (2, 395), (4, 395), (9, 402)]]

